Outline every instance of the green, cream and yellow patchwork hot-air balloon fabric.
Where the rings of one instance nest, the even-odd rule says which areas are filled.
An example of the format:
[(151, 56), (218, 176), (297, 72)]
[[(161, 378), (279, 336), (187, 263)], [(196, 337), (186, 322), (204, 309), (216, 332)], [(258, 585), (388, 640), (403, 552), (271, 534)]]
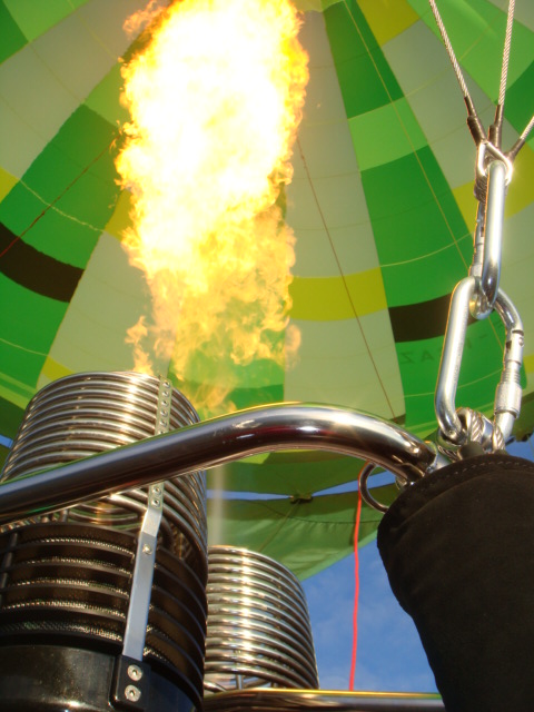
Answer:
[[(145, 4), (0, 0), (3, 453), (28, 400), (47, 383), (134, 366), (125, 336), (148, 297), (121, 247), (130, 202), (113, 161), (128, 120), (120, 67), (142, 39), (128, 38), (123, 22)], [(473, 251), (475, 148), (462, 95), (426, 0), (296, 4), (310, 79), (286, 221), (297, 238), (290, 320), (301, 345), (294, 367), (259, 360), (239, 368), (231, 399), (237, 407), (346, 406), (426, 437), (437, 427), (434, 390), (451, 293)], [(498, 93), (505, 4), (439, 3), (485, 126)], [(533, 60), (533, 4), (517, 0), (506, 148), (534, 112)], [(531, 139), (515, 161), (502, 270), (525, 326), (520, 437), (534, 427), (533, 149)], [(456, 405), (492, 414), (503, 353), (495, 315), (469, 325)], [(254, 498), (225, 501), (224, 543), (265, 548), (301, 576), (327, 566), (352, 550), (354, 494), (336, 495), (335, 526), (323, 516), (334, 501), (316, 495), (356, 479), (360, 466), (297, 452), (216, 468), (214, 491), (286, 495), (270, 510)], [(306, 504), (288, 498), (304, 495)], [(300, 511), (309, 517), (294, 515)], [(378, 520), (369, 518), (362, 541)]]

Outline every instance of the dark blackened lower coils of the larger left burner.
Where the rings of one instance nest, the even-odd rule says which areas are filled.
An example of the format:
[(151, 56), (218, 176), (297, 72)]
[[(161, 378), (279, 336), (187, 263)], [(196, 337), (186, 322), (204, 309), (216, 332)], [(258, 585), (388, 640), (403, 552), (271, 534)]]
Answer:
[[(47, 522), (0, 534), (0, 649), (52, 645), (120, 654), (136, 548), (135, 534), (93, 524)], [(204, 582), (184, 560), (158, 547), (144, 660), (178, 684), (196, 709), (206, 614)]]

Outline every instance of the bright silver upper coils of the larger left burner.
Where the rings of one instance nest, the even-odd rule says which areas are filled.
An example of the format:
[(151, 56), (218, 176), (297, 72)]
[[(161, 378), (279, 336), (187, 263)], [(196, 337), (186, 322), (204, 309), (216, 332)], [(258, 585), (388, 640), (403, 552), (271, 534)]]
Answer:
[[(49, 384), (28, 405), (1, 479), (12, 479), (154, 436), (159, 385), (158, 378), (137, 373), (85, 373)], [(172, 389), (170, 428), (197, 422), (198, 416), (189, 400)], [(131, 490), (80, 504), (52, 518), (136, 531), (147, 497), (148, 488)], [(205, 580), (204, 472), (166, 482), (161, 535), (164, 545)]]

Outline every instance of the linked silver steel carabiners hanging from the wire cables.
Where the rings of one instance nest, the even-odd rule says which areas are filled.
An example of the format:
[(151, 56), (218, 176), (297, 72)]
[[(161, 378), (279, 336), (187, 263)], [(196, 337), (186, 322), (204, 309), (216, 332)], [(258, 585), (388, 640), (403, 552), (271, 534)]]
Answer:
[[(495, 125), (492, 128), (495, 129)], [(478, 209), (473, 263), (469, 276), (462, 279), (453, 291), (435, 394), (436, 417), (445, 447), (481, 442), (462, 417), (468, 408), (457, 409), (455, 405), (469, 316), (485, 319), (495, 310), (506, 328), (504, 367), (495, 394), (493, 432), (486, 452), (503, 448), (520, 414), (523, 326), (517, 309), (500, 288), (504, 207), (512, 170), (510, 156), (487, 140), (481, 141), (476, 164)], [(476, 424), (481, 418), (485, 416), (474, 414), (471, 421)], [(484, 439), (488, 441), (487, 437)]]

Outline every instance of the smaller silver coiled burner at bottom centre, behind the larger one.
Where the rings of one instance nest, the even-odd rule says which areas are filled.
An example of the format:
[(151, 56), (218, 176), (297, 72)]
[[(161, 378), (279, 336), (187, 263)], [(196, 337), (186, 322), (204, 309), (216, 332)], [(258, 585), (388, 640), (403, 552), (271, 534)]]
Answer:
[(241, 548), (208, 550), (204, 688), (318, 689), (308, 607), (278, 562)]

